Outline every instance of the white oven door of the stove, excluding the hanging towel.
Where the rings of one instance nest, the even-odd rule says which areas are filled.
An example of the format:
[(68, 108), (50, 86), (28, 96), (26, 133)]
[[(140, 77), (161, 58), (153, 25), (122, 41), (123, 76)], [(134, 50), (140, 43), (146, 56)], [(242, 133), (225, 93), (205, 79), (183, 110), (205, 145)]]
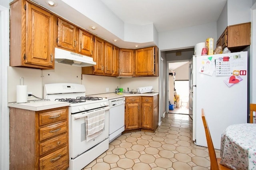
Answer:
[(109, 132), (109, 111), (105, 111), (105, 127), (104, 131), (95, 138), (86, 141), (86, 113), (76, 113), (71, 115), (71, 139), (70, 139), (70, 156), (76, 158), (76, 156), (82, 154), (86, 150), (92, 148), (96, 144), (102, 142), (108, 138)]

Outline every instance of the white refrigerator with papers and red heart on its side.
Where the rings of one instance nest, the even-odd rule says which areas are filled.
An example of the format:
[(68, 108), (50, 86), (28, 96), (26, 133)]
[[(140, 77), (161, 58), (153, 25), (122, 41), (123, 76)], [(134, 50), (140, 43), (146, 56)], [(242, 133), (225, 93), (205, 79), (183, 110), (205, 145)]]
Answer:
[(247, 123), (247, 51), (193, 56), (190, 101), (193, 112), (193, 140), (206, 146), (201, 109), (204, 109), (215, 149), (220, 149), (223, 130)]

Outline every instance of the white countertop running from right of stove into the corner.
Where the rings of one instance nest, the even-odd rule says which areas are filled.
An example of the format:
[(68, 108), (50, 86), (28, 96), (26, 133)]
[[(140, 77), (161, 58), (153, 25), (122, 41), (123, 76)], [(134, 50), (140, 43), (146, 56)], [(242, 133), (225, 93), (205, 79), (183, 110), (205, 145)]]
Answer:
[(120, 95), (116, 94), (116, 93), (102, 93), (102, 94), (97, 94), (97, 95), (88, 95), (88, 96), (92, 96), (92, 97), (103, 97), (106, 99), (117, 99), (120, 97), (131, 97), (131, 96), (155, 96), (158, 95), (159, 93), (135, 93), (135, 94), (131, 94), (131, 93), (122, 93)]

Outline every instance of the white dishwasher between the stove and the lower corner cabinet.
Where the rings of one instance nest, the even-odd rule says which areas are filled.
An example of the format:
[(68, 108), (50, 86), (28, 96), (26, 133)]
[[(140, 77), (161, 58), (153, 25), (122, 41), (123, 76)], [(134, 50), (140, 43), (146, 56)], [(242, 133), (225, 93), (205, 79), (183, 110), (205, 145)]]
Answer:
[(109, 142), (124, 131), (124, 104), (124, 97), (109, 100)]

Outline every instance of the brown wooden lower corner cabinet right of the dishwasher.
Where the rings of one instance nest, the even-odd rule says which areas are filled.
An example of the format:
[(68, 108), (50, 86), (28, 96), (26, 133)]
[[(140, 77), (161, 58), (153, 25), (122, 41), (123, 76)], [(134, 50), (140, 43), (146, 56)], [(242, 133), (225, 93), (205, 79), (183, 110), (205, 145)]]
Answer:
[(125, 130), (154, 132), (158, 127), (158, 95), (125, 98)]

